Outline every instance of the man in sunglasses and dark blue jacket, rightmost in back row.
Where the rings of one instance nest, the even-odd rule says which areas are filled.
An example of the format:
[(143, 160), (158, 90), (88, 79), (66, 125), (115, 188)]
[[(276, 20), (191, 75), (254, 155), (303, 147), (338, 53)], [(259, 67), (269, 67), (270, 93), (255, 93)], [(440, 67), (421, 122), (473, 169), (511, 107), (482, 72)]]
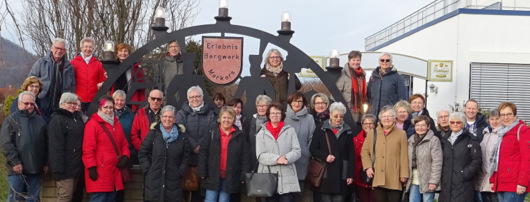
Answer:
[(368, 103), (372, 114), (379, 114), (383, 106), (394, 105), (400, 100), (408, 100), (403, 77), (392, 64), (392, 55), (383, 53), (370, 77), (367, 87)]

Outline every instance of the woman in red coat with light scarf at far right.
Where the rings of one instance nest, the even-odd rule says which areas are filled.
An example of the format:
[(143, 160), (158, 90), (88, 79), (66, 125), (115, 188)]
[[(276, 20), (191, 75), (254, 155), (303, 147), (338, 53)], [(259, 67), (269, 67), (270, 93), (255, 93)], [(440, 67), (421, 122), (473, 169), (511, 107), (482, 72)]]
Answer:
[(523, 202), (530, 185), (530, 129), (517, 118), (515, 104), (503, 102), (498, 110), (502, 128), (488, 167), (491, 189), (500, 202)]

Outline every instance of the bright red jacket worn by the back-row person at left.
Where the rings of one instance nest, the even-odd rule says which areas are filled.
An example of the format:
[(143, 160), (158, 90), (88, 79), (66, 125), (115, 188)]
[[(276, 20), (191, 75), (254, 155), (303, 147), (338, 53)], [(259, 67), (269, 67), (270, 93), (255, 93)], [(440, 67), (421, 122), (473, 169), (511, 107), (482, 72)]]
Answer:
[(92, 56), (86, 64), (81, 54), (78, 54), (70, 63), (75, 70), (75, 93), (81, 102), (92, 102), (98, 92), (97, 84), (107, 79), (103, 65), (95, 56)]

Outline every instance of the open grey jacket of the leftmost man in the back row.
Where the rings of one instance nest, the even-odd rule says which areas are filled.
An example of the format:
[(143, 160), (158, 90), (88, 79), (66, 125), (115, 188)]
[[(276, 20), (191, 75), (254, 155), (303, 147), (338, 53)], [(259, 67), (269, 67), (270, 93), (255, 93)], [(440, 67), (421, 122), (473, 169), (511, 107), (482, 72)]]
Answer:
[[(70, 64), (70, 61), (66, 59), (66, 56), (63, 56), (61, 58), (61, 62), (64, 64), (64, 70), (63, 70), (63, 93), (64, 92), (74, 92), (75, 93), (75, 72), (74, 68), (72, 67), (72, 64)], [(49, 55), (39, 58), (35, 64), (33, 64), (33, 67), (31, 67), (31, 71), (29, 72), (29, 76), (36, 76), (39, 78), (40, 82), (42, 82), (43, 87), (42, 91), (39, 93), (40, 98), (44, 98), (48, 96), (48, 92), (50, 91), (50, 85), (51, 82), (55, 80), (55, 60), (53, 59), (53, 55), (50, 52)]]

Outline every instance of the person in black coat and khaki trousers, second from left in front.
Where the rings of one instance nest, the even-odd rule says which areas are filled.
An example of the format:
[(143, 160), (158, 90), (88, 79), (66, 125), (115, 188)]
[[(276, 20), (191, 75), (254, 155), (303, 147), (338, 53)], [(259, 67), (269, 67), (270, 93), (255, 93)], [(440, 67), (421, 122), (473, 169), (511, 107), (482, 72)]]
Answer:
[(85, 124), (77, 109), (79, 98), (63, 93), (59, 109), (48, 125), (49, 163), (57, 185), (57, 201), (72, 201), (73, 193), (83, 177), (83, 133)]

